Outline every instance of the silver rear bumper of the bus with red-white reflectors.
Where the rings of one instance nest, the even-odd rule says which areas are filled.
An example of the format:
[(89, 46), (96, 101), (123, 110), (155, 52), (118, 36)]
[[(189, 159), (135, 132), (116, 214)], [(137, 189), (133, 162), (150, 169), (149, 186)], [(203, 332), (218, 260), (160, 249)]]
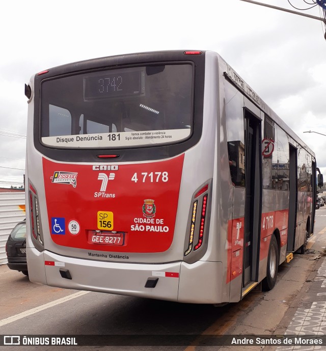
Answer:
[[(35, 249), (28, 249), (27, 254), (29, 278), (34, 283), (184, 303), (219, 303), (221, 299), (221, 262), (140, 264), (77, 259)], [(60, 268), (68, 269), (72, 279), (63, 278)], [(145, 288), (153, 277), (158, 278), (156, 286)]]

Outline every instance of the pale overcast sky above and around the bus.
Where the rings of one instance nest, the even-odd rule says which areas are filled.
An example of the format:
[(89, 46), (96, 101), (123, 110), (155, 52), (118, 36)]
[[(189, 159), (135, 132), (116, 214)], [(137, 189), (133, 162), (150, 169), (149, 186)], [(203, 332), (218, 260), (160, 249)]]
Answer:
[[(313, 0), (290, 0), (297, 8)], [(294, 10), (288, 0), (261, 0)], [(320, 7), (301, 11), (320, 16)], [(28, 104), (37, 72), (156, 50), (212, 50), (315, 152), (326, 177), (326, 41), (322, 22), (240, 0), (17, 0), (0, 21), (0, 187), (20, 186)], [(10, 134), (11, 136), (8, 136)]]

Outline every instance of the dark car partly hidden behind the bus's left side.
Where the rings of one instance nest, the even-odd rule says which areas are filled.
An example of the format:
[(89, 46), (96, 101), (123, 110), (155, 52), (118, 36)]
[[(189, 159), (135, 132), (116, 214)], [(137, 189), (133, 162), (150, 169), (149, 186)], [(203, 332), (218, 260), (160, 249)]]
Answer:
[(19, 222), (11, 231), (7, 244), (6, 254), (8, 267), (29, 275), (26, 261), (26, 220)]

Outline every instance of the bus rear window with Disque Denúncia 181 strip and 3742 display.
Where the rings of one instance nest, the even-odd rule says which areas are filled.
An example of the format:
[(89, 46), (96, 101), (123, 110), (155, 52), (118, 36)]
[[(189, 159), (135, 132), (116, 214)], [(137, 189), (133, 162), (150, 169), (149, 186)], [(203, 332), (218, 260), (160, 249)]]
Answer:
[(190, 64), (46, 79), (41, 86), (41, 140), (60, 148), (123, 148), (183, 141), (192, 132), (192, 94)]

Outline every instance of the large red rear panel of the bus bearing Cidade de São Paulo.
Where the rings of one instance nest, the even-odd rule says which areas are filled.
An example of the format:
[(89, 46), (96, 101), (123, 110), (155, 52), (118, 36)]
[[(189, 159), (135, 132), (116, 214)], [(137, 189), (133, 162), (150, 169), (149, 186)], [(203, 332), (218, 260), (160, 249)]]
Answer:
[[(43, 157), (51, 240), (67, 248), (67, 256), (68, 248), (121, 253), (167, 251), (174, 237), (183, 159), (184, 154), (163, 161), (119, 164), (119, 170), (104, 174), (107, 190), (100, 191), (102, 181), (99, 180), (103, 180), (98, 178), (103, 172), (100, 168), (104, 170), (111, 165), (103, 164), (93, 170), (92, 164), (64, 164)], [(59, 178), (59, 175), (67, 177)], [(106, 217), (102, 216), (108, 215), (103, 214), (106, 208), (111, 209), (111, 217), (103, 222)], [(62, 219), (62, 235), (53, 229), (52, 222), (57, 218)], [(69, 230), (71, 219), (79, 224), (78, 235)], [(124, 233), (123, 245), (93, 242), (89, 230), (99, 229)]]

